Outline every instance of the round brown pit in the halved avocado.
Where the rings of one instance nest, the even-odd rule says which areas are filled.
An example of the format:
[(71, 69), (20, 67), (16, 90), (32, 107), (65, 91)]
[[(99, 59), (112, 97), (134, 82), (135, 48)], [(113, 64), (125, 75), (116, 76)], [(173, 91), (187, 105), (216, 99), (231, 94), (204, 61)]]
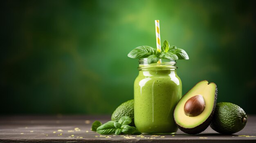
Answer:
[(184, 113), (189, 117), (195, 117), (204, 111), (205, 102), (202, 95), (189, 98), (184, 105)]

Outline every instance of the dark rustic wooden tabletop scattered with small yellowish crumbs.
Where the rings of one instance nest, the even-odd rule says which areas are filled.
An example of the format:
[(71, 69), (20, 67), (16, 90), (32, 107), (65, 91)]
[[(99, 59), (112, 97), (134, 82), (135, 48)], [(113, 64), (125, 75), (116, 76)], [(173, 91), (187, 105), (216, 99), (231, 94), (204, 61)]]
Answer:
[(248, 116), (245, 128), (232, 135), (218, 134), (210, 127), (197, 135), (178, 130), (175, 135), (101, 135), (91, 124), (110, 116), (2, 116), (0, 142), (8, 143), (256, 143), (256, 116)]

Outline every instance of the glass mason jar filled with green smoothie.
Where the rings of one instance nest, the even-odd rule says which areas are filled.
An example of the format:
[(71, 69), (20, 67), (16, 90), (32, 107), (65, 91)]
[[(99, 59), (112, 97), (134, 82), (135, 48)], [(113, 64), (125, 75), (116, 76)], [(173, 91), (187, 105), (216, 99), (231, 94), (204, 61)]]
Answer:
[(139, 59), (139, 75), (134, 82), (134, 121), (142, 133), (175, 134), (173, 111), (182, 97), (182, 83), (175, 60), (148, 64)]

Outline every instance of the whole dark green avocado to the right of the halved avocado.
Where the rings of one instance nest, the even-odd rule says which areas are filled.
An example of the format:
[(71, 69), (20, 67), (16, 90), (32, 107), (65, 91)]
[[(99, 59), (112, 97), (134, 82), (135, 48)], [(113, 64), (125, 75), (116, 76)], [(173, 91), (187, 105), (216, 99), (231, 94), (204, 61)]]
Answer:
[[(242, 121), (245, 118), (246, 121)], [(247, 123), (245, 111), (236, 104), (220, 102), (216, 105), (210, 127), (220, 134), (234, 134), (242, 130)]]

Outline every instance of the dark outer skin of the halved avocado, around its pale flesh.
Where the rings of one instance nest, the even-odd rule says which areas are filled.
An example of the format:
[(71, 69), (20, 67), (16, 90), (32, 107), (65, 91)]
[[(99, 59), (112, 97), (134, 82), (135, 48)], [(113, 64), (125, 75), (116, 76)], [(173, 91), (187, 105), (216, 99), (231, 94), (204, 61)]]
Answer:
[[(207, 81), (207, 80), (203, 80), (203, 81)], [(201, 82), (201, 81), (200, 81)], [(200, 82), (198, 82), (198, 83), (200, 83)], [(208, 81), (207, 81), (208, 82)], [(215, 83), (213, 83), (213, 82), (211, 82), (211, 83), (209, 83), (209, 84), (215, 84)], [(196, 84), (197, 85), (197, 84)], [(196, 86), (195, 85), (195, 86)], [(195, 87), (195, 86), (193, 86), (193, 88)], [(215, 84), (215, 86), (216, 86), (216, 84)], [(193, 89), (193, 88), (191, 88), (191, 89)], [(190, 89), (190, 90), (191, 90)], [(189, 90), (189, 91), (190, 91)], [(188, 92), (189, 92), (188, 91)], [(188, 92), (186, 92), (186, 94), (188, 93)], [(185, 94), (185, 95), (186, 95)], [(185, 96), (184, 95), (184, 96)], [(202, 123), (202, 124), (200, 124), (200, 125), (198, 125), (198, 126), (196, 126), (196, 127), (194, 127), (194, 128), (183, 128), (182, 126), (180, 126), (180, 125), (178, 125), (177, 123), (176, 123), (176, 121), (175, 121), (175, 123), (176, 123), (176, 125), (178, 126), (178, 128), (182, 131), (182, 132), (184, 132), (184, 133), (187, 133), (187, 134), (199, 134), (200, 132), (203, 132), (209, 125), (210, 125), (210, 123), (211, 123), (211, 119), (213, 118), (213, 114), (214, 114), (214, 110), (215, 110), (215, 107), (216, 107), (216, 101), (217, 101), (217, 95), (218, 95), (218, 89), (217, 89), (217, 86), (216, 86), (216, 90), (215, 90), (215, 95), (214, 95), (214, 105), (213, 105), (213, 109), (212, 109), (212, 111), (211, 111), (211, 114), (210, 114), (210, 116)], [(184, 97), (184, 96), (182, 96), (182, 98)], [(181, 98), (181, 99), (182, 99)], [(180, 100), (181, 100), (180, 99)], [(174, 116), (174, 114), (173, 114), (173, 116)]]

